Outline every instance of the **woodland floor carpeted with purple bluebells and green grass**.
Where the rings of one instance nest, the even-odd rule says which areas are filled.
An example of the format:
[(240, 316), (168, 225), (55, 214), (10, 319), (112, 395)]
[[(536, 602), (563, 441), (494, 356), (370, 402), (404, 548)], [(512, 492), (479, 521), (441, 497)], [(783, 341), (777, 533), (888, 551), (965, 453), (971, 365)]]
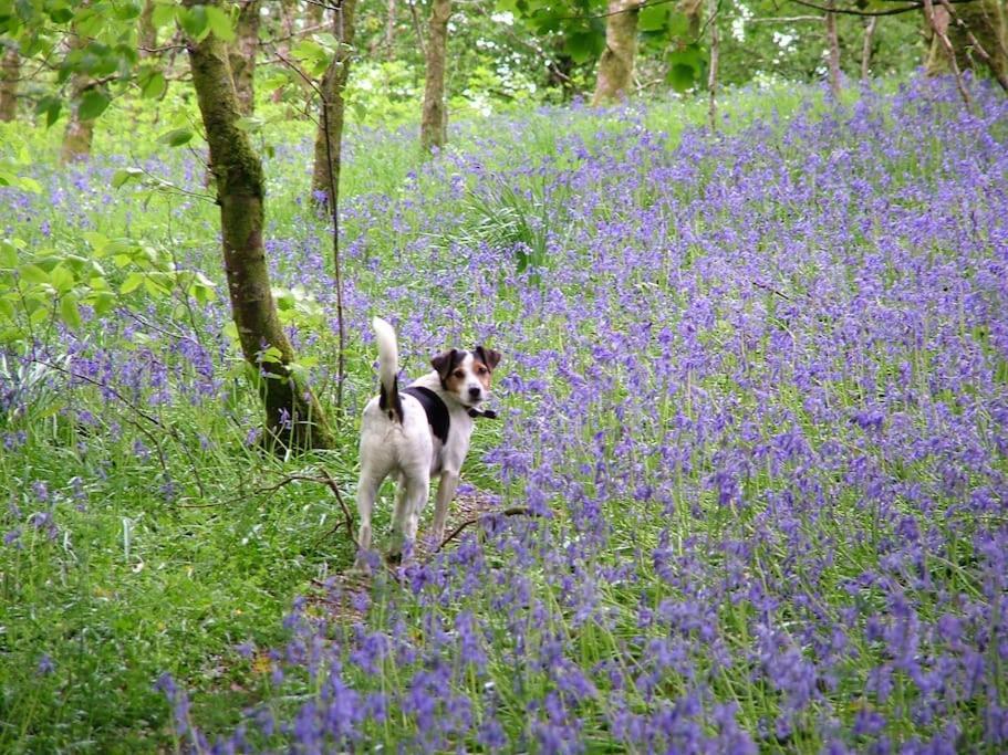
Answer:
[[(426, 164), (356, 134), (333, 452), (257, 451), (224, 295), (8, 348), (0, 749), (1004, 752), (1008, 104), (977, 95), (740, 93), (720, 135), (575, 107)], [(2, 235), (220, 281), (198, 151), (112, 145), (0, 190)], [(273, 283), (332, 406), (309, 141), (274, 147)], [(191, 195), (113, 190), (138, 159)], [(409, 375), (505, 354), (463, 492), (531, 515), (357, 590), (331, 492), (278, 483), (352, 501), (373, 314)]]

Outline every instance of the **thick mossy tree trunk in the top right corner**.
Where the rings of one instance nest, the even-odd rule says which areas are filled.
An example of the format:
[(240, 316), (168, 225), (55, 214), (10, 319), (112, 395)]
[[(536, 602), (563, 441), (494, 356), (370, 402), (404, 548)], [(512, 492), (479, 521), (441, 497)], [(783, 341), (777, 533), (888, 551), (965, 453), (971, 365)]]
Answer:
[[(955, 19), (935, 2), (934, 19), (937, 28), (947, 35), (949, 45), (937, 31), (932, 35), (927, 55), (927, 73), (936, 75), (955, 73), (956, 69), (987, 69), (996, 78), (1008, 75), (1008, 30), (1005, 13), (998, 0), (976, 0), (955, 4)], [(925, 10), (925, 20), (927, 12)], [(960, 23), (962, 22), (962, 23)], [(928, 21), (928, 23), (931, 23)], [(973, 39), (970, 39), (970, 35)], [(977, 44), (986, 56), (978, 54)], [(953, 57), (954, 64), (953, 64)], [(988, 60), (989, 59), (989, 60)], [(979, 65), (978, 65), (979, 64)], [(979, 73), (979, 71), (977, 71)]]

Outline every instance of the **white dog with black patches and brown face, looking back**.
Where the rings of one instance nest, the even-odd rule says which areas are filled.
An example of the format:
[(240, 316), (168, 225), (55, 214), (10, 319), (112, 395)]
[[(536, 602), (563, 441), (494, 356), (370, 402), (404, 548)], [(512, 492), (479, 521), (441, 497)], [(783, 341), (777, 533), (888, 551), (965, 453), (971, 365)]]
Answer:
[(440, 478), (434, 507), (435, 542), (445, 536), (448, 504), (455, 497), (458, 473), (472, 436), (474, 418), (496, 417), (480, 406), (490, 396), (490, 377), (501, 355), (477, 346), (453, 348), (430, 360), (434, 370), (398, 387), (398, 345), (392, 325), (372, 319), (378, 346), (380, 392), (364, 407), (361, 420), (361, 479), (357, 483), (357, 568), (367, 570), (363, 555), (371, 548), (371, 513), (382, 482), (398, 480), (389, 563), (401, 563), (406, 542), (416, 542), (420, 512), (430, 480)]

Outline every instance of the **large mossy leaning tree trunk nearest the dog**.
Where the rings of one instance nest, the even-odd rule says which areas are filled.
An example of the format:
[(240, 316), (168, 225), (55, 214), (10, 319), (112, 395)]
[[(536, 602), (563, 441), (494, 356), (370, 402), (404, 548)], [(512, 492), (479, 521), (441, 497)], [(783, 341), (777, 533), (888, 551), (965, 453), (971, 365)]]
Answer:
[[(186, 0), (187, 6), (195, 2)], [(238, 127), (241, 113), (227, 45), (209, 34), (202, 42), (190, 40), (187, 48), (217, 181), (231, 316), (242, 354), (261, 376), (266, 438), (283, 449), (331, 448), (322, 408), (288, 367), (294, 354), (277, 316), (262, 243), (262, 165)]]

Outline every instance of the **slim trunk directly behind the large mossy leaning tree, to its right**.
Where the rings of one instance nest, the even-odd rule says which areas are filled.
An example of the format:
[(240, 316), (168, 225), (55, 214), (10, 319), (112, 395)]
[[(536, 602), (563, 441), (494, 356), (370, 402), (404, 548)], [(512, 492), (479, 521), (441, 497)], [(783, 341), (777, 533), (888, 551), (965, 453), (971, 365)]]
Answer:
[[(340, 202), (340, 168), (343, 145), (343, 91), (350, 76), (353, 54), (354, 15), (356, 0), (337, 0), (333, 10), (333, 36), (340, 48), (322, 76), (319, 87), (322, 103), (319, 108), (319, 128), (315, 130), (315, 161), (312, 169), (312, 196), (320, 202)], [(326, 129), (329, 137), (326, 138)]]

